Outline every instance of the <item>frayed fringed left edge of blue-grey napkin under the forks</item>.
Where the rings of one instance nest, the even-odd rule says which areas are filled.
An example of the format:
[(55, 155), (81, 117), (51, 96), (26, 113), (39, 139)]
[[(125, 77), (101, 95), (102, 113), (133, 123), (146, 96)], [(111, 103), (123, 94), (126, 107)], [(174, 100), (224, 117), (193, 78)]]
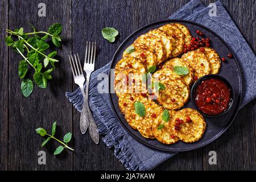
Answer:
[[(92, 86), (90, 89), (97, 88), (97, 86)], [(98, 131), (100, 135), (104, 135), (102, 138), (103, 142), (109, 148), (114, 147), (114, 155), (117, 159), (128, 170), (145, 170), (141, 160), (138, 158), (136, 152), (134, 151), (133, 146), (131, 146), (125, 132), (122, 130), (122, 126), (118, 121), (115, 121), (116, 118), (113, 112), (104, 112), (106, 109), (110, 109), (107, 102), (102, 103), (102, 96), (97, 90), (90, 90), (93, 93), (93, 96), (90, 97), (90, 101), (93, 101), (93, 105), (90, 105), (90, 108), (94, 111), (93, 117), (97, 123)], [(81, 113), (81, 108), (83, 100), (80, 89), (75, 90), (73, 93), (65, 93), (65, 96), (70, 102), (75, 106), (75, 108)], [(96, 111), (96, 110), (100, 110)], [(95, 114), (95, 111), (100, 114)], [(109, 118), (108, 121), (102, 121), (101, 118)], [(101, 121), (100, 121), (101, 120)]]

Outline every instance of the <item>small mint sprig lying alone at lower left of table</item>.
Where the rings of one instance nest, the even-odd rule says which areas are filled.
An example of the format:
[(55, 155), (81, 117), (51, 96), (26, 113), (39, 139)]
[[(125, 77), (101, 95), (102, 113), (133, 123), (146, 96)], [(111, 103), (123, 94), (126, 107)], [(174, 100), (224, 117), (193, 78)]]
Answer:
[(46, 145), (46, 143), (49, 142), (49, 140), (55, 139), (57, 142), (61, 143), (62, 145), (56, 148), (54, 155), (60, 154), (64, 150), (64, 148), (68, 148), (69, 150), (74, 151), (73, 148), (68, 146), (68, 142), (70, 142), (70, 140), (72, 138), (72, 133), (65, 134), (65, 136), (63, 137), (63, 142), (61, 142), (59, 139), (54, 137), (55, 131), (56, 131), (56, 121), (53, 122), (53, 124), (52, 124), (52, 133), (51, 134), (47, 134), (47, 131), (44, 130), (42, 127), (39, 127), (38, 129), (36, 129), (36, 133), (38, 133), (41, 137), (47, 136), (47, 139), (44, 140), (41, 147)]

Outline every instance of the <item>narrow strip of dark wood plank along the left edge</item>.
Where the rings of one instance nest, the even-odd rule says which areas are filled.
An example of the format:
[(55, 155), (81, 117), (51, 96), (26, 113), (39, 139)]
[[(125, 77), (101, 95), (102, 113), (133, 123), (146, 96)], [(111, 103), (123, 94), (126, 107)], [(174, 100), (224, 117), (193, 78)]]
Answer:
[(8, 48), (5, 30), (8, 28), (8, 1), (0, 2), (0, 170), (7, 170), (8, 163)]

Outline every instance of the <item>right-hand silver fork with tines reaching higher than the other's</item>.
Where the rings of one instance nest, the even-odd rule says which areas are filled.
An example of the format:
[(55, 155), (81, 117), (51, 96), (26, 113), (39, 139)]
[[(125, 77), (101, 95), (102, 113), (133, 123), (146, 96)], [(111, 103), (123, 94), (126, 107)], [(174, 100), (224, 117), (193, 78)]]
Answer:
[(100, 138), (98, 134), (98, 128), (92, 117), (92, 113), (90, 112), (90, 107), (88, 105), (89, 81), (90, 81), (90, 74), (94, 71), (95, 55), (96, 55), (96, 42), (92, 43), (92, 48), (90, 46), (90, 42), (89, 42), (89, 48), (88, 48), (88, 42), (86, 42), (84, 71), (86, 72), (85, 97), (86, 97), (86, 107), (87, 107), (88, 116), (89, 116), (89, 133), (94, 143), (98, 143), (98, 140)]

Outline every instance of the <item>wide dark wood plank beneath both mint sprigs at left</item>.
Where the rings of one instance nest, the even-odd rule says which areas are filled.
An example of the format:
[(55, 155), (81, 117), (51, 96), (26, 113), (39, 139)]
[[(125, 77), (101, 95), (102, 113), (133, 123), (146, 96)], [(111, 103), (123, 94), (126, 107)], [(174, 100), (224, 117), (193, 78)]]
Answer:
[[(57, 50), (60, 62), (53, 72), (53, 80), (47, 89), (39, 89), (34, 85), (34, 91), (28, 98), (20, 93), (18, 63), (22, 59), (13, 51), (9, 53), (9, 169), (41, 170), (41, 169), (72, 169), (73, 154), (65, 151), (59, 156), (53, 152), (59, 144), (49, 142), (46, 147), (40, 147), (43, 142), (35, 129), (44, 127), (51, 131), (53, 121), (57, 121), (56, 136), (62, 138), (72, 131), (72, 106), (65, 99), (65, 91), (71, 90), (72, 76), (69, 72), (67, 55), (71, 53), (71, 0), (46, 1), (46, 17), (38, 16), (38, 4), (42, 1), (10, 1), (10, 28), (24, 27), (30, 30), (28, 23), (34, 24), (38, 30), (47, 30), (52, 23), (63, 24), (63, 46)], [(32, 69), (30, 71), (32, 73)], [(32, 75), (32, 74), (31, 74)], [(71, 143), (72, 144), (72, 143)], [(46, 151), (46, 165), (38, 164), (38, 152)]]

